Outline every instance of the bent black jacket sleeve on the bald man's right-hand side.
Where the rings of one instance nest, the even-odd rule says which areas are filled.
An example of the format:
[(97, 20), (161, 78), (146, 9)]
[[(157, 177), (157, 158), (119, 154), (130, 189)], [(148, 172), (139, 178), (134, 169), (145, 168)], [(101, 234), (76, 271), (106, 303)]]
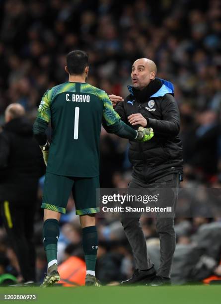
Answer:
[(177, 136), (180, 131), (180, 115), (175, 98), (166, 94), (161, 104), (162, 119), (147, 118), (147, 127), (158, 134)]

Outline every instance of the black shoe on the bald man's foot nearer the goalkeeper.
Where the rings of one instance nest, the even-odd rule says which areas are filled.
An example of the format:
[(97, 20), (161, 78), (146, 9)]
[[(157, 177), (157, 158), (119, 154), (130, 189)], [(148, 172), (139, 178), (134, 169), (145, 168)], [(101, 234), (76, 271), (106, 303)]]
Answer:
[(156, 272), (154, 269), (154, 265), (152, 265), (152, 267), (148, 270), (136, 269), (133, 276), (130, 279), (121, 282), (121, 285), (146, 285), (148, 282), (151, 282), (155, 276)]

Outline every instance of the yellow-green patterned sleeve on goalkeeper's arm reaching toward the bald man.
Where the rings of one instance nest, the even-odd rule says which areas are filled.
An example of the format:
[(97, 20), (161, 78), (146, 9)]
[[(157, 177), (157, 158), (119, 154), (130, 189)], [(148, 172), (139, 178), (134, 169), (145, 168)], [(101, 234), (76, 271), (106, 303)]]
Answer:
[(107, 126), (111, 126), (116, 124), (121, 119), (117, 112), (114, 111), (111, 100), (107, 93), (103, 91), (102, 101), (104, 103), (104, 112), (103, 112), (103, 120), (107, 124)]

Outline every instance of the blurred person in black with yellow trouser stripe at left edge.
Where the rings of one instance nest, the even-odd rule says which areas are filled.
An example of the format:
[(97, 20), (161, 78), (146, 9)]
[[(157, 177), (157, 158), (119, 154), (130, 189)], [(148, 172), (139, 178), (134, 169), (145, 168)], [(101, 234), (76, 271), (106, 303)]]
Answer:
[(43, 173), (32, 125), (24, 108), (11, 104), (0, 133), (0, 210), (24, 282), (35, 281), (33, 227), (38, 179)]

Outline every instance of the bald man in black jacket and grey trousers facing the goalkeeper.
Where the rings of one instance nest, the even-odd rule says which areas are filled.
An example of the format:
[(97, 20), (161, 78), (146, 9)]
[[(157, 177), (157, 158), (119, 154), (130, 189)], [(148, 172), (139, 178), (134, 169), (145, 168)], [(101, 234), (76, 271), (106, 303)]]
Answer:
[[(156, 65), (142, 58), (134, 62), (128, 85), (130, 94), (122, 97), (110, 95), (115, 111), (121, 119), (135, 129), (151, 127), (154, 137), (147, 143), (130, 142), (129, 159), (133, 165), (129, 188), (178, 189), (183, 180), (182, 143), (178, 137), (180, 118), (174, 99), (174, 87), (169, 81), (156, 78)], [(170, 193), (169, 198), (166, 193)], [(177, 191), (166, 191), (159, 207), (175, 208)], [(156, 217), (156, 231), (160, 239), (160, 266), (155, 272), (147, 255), (146, 239), (139, 218), (123, 218), (122, 225), (134, 254), (137, 269), (132, 278), (122, 285), (147, 284), (159, 286), (170, 284), (172, 258), (176, 236), (174, 217)]]

